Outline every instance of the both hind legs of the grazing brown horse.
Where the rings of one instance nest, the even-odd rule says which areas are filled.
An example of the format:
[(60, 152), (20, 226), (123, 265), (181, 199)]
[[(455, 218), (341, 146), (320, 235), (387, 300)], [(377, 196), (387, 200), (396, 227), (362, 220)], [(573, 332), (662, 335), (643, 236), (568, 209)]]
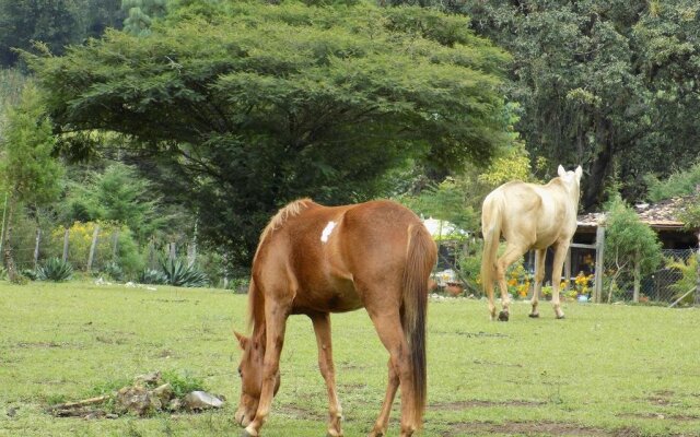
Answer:
[[(376, 329), (377, 334), (380, 335), (380, 340), (384, 347), (389, 352), (389, 365), (394, 367), (394, 374), (389, 370), (389, 385), (387, 387), (387, 395), (384, 400), (385, 404), (383, 405), (382, 413), (385, 410), (390, 410), (390, 403), (387, 402), (389, 398), (390, 391), (396, 391), (396, 389), (392, 389), (393, 382), (392, 376), (396, 375), (398, 377), (399, 387), (401, 390), (401, 434), (400, 437), (410, 437), (413, 435), (416, 429), (419, 427), (419, 414), (413, 411), (413, 386), (411, 382), (411, 363), (409, 361), (409, 347), (406, 342), (406, 338), (404, 336), (404, 330), (401, 328), (401, 321), (398, 314), (398, 310), (388, 310), (388, 311), (370, 311), (370, 317), (372, 318), (372, 322), (374, 323), (374, 328)], [(388, 403), (388, 405), (387, 405)], [(386, 414), (386, 418), (388, 418), (388, 413)], [(383, 425), (384, 417), (381, 414), (377, 418), (376, 423)], [(382, 434), (376, 433), (375, 429), (372, 430), (370, 436), (381, 436)]]

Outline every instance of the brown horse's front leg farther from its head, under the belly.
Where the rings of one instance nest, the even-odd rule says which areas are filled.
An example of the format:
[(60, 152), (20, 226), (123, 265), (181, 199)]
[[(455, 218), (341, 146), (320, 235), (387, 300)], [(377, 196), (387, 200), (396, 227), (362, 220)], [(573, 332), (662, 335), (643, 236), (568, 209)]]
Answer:
[(326, 381), (328, 390), (328, 436), (342, 436), (340, 421), (342, 420), (342, 408), (338, 401), (336, 391), (336, 370), (332, 364), (332, 346), (330, 341), (330, 315), (328, 312), (310, 316), (314, 323), (316, 343), (318, 345), (318, 368)]

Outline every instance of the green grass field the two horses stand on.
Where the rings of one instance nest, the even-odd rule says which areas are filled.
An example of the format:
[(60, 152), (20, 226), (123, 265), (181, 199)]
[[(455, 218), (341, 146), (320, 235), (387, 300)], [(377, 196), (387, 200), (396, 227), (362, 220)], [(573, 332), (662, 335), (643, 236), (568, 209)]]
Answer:
[[(233, 423), (245, 296), (90, 283), (0, 282), (0, 436), (237, 436)], [(486, 303), (431, 302), (423, 436), (700, 436), (700, 310), (570, 303), (565, 320), (508, 323)], [(346, 436), (363, 436), (384, 395), (387, 354), (364, 311), (336, 315)], [(56, 400), (152, 370), (189, 373), (222, 411), (150, 418), (55, 418)], [(326, 394), (308, 319), (290, 318), (282, 387), (265, 436), (325, 435)], [(397, 405), (389, 435), (398, 435)]]

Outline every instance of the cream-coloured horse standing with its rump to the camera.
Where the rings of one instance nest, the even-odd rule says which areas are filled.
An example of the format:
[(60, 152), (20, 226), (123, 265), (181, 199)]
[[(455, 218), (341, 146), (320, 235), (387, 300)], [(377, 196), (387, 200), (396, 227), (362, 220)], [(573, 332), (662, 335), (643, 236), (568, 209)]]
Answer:
[[(529, 249), (536, 251), (535, 292), (533, 293), (533, 311), (529, 317), (539, 317), (537, 299), (545, 279), (545, 256), (549, 246), (555, 249), (551, 304), (557, 318), (564, 318), (559, 302), (559, 282), (564, 257), (576, 231), (582, 173), (581, 166), (575, 172), (567, 172), (560, 165), (559, 177), (553, 178), (547, 185), (512, 181), (491, 191), (483, 200), (481, 210), (481, 229), (483, 232), (481, 282), (489, 297), (489, 311), (492, 320), (495, 320), (493, 281), (498, 281), (501, 288), (503, 310), (499, 314), (499, 320), (508, 321), (510, 297), (505, 283), (505, 270)], [(501, 235), (505, 238), (508, 246), (505, 252), (497, 260)]]

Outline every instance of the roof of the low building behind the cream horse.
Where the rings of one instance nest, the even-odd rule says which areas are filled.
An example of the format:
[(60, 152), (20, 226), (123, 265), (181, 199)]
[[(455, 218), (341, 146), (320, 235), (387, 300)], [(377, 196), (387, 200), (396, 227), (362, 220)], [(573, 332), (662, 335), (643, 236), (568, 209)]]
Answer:
[[(646, 223), (656, 229), (682, 229), (685, 223), (678, 218), (678, 213), (685, 209), (689, 197), (679, 197), (662, 200), (657, 203), (638, 203), (634, 210), (642, 223)], [(579, 227), (597, 227), (605, 223), (605, 213), (593, 212), (579, 215)]]

